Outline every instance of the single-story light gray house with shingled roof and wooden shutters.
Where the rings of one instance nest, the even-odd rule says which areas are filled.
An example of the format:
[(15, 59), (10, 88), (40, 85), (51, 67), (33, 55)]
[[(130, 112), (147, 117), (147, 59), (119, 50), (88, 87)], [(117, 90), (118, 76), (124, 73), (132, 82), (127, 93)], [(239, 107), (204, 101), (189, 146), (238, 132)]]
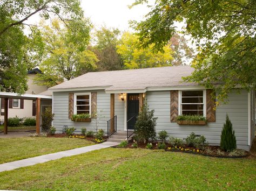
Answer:
[[(75, 126), (76, 133), (103, 129), (110, 138), (125, 132), (129, 137), (143, 103), (154, 109), (157, 132), (166, 130), (170, 136), (186, 138), (191, 132), (203, 135), (211, 145), (219, 145), (226, 114), (233, 123), (238, 148), (250, 150), (255, 128), (255, 92), (235, 90), (228, 104), (214, 111), (212, 90), (197, 83), (183, 82), (181, 77), (193, 72), (190, 66), (173, 66), (109, 72), (91, 72), (49, 88), (52, 91), (53, 126)], [(72, 121), (73, 114), (90, 114), (87, 122)], [(95, 114), (97, 113), (97, 117)], [(205, 125), (179, 125), (181, 114), (199, 114), (207, 118)], [(93, 117), (94, 116), (94, 117)], [(117, 132), (116, 132), (117, 131)]]

